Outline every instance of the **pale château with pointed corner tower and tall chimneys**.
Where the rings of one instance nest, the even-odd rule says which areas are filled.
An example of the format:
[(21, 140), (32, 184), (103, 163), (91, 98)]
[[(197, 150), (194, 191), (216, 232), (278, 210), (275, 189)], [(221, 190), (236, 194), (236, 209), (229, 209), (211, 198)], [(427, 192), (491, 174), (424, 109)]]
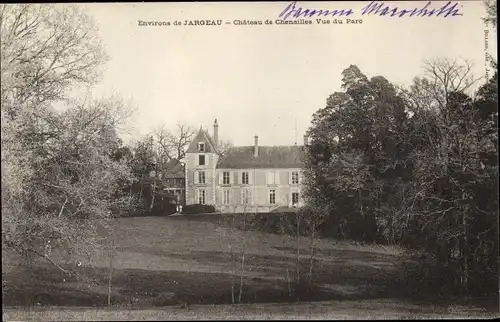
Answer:
[(186, 204), (210, 204), (220, 212), (270, 212), (301, 206), (303, 146), (236, 146), (223, 155), (201, 129), (186, 152)]

